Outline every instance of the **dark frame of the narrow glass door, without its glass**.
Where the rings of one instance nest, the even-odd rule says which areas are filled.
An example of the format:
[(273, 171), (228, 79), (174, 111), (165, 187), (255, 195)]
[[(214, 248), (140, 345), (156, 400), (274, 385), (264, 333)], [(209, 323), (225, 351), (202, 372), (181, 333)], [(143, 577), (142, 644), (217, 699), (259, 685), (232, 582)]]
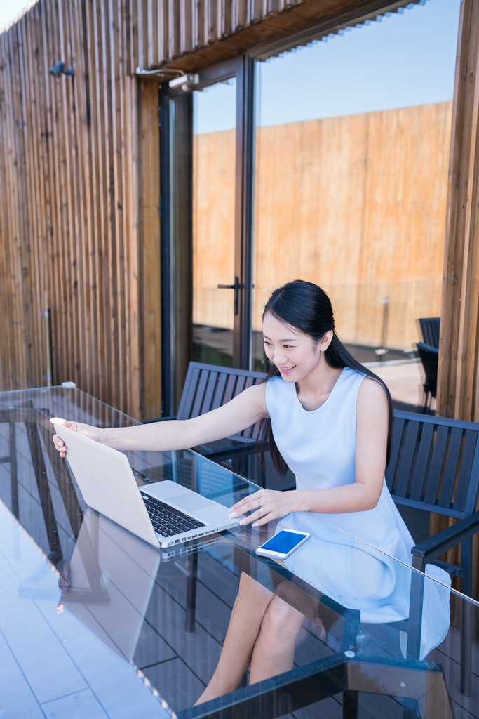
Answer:
[[(251, 228), (254, 60), (241, 56), (200, 70), (195, 89), (236, 77), (235, 306), (233, 367), (251, 362)], [(192, 91), (159, 93), (162, 235), (162, 406), (173, 416), (192, 359)], [(236, 279), (237, 278), (237, 279)]]

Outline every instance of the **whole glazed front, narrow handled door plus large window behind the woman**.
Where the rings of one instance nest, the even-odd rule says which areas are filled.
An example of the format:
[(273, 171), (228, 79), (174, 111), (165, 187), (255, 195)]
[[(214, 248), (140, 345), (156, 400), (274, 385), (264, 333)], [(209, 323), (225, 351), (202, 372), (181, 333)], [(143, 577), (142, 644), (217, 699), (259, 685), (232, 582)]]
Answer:
[(361, 362), (414, 359), (440, 315), (459, 7), (312, 27), (162, 88), (165, 413), (191, 359), (267, 370), (261, 314), (289, 280), (330, 294)]

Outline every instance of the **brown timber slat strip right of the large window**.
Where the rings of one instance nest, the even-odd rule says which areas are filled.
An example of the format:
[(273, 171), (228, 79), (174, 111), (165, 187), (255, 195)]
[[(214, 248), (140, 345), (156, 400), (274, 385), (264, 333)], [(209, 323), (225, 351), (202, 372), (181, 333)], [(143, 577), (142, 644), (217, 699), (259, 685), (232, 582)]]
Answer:
[(452, 113), (437, 407), (479, 421), (479, 0), (461, 4)]

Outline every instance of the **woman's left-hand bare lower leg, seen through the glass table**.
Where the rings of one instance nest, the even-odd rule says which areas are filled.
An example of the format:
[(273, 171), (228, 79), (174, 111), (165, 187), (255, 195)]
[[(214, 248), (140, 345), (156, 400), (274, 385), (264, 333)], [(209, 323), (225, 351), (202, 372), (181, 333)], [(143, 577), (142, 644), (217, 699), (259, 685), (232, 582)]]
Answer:
[[(196, 704), (233, 692), (248, 669), (261, 620), (274, 594), (241, 574), (238, 596), (233, 605), (218, 667)], [(196, 706), (196, 705), (195, 705)]]

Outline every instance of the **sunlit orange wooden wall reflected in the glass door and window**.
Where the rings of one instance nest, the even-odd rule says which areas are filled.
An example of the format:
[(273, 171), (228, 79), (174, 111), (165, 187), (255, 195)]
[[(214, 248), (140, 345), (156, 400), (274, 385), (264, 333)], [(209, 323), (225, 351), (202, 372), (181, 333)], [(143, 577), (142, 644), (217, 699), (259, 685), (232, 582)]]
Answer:
[[(345, 342), (419, 342), (440, 313), (452, 103), (260, 127), (256, 134), (254, 316), (294, 279), (330, 294)], [(233, 143), (233, 144), (232, 144)], [(228, 237), (234, 132), (195, 136), (195, 324), (232, 329)], [(231, 247), (233, 245), (231, 244)]]

